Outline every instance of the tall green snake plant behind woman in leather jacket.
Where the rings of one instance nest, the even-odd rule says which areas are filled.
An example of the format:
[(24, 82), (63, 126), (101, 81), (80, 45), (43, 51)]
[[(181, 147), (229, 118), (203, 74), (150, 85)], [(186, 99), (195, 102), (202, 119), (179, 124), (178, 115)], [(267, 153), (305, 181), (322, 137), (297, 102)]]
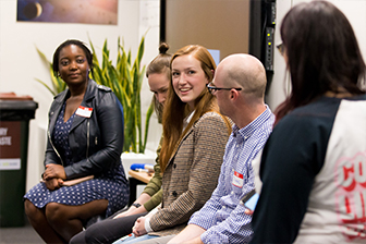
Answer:
[[(145, 132), (143, 138), (142, 129), (142, 109), (141, 109), (141, 89), (145, 75), (145, 65), (142, 68), (141, 61), (144, 54), (145, 36), (142, 37), (137, 56), (132, 62), (131, 50), (125, 51), (123, 44), (121, 45), (120, 38), (118, 38), (118, 57), (115, 64), (109, 58), (109, 49), (107, 39), (102, 47), (102, 61), (96, 56), (96, 51), (91, 40), (89, 44), (93, 50), (93, 80), (98, 84), (110, 87), (118, 99), (121, 101), (124, 111), (124, 144), (123, 151), (144, 152), (146, 148), (148, 126), (151, 114), (154, 112), (154, 102), (146, 112)], [(52, 71), (52, 63), (48, 61), (46, 56), (37, 48), (37, 51), (41, 60), (48, 65), (50, 76), (52, 81), (52, 88), (46, 83), (36, 78), (49, 91), (56, 96), (65, 89), (64, 82), (54, 76)]]

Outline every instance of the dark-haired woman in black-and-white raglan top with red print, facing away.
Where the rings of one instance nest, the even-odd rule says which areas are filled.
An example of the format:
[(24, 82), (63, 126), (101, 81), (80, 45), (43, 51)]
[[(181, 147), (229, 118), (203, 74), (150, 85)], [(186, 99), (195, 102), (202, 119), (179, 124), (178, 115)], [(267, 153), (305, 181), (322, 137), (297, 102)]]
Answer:
[(295, 5), (281, 25), (292, 91), (260, 162), (252, 243), (366, 242), (366, 68), (344, 14)]

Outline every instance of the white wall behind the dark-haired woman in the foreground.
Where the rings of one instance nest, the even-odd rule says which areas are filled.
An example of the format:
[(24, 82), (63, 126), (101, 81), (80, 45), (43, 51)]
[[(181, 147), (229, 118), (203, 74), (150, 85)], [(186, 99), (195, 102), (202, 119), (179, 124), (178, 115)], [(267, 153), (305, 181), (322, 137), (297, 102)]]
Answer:
[[(291, 7), (300, 2), (309, 2), (310, 0), (277, 0), (277, 25), (274, 34), (274, 44), (281, 42), (280, 26), (283, 16)], [(358, 39), (364, 60), (366, 61), (366, 1), (365, 0), (330, 0), (337, 5), (351, 22), (351, 25)], [(331, 28), (331, 26), (329, 26)], [(272, 109), (281, 103), (285, 94), (289, 91), (289, 75), (285, 76), (285, 63), (281, 54), (274, 50), (274, 74), (270, 85), (267, 102)], [(286, 78), (286, 80), (285, 80)]]

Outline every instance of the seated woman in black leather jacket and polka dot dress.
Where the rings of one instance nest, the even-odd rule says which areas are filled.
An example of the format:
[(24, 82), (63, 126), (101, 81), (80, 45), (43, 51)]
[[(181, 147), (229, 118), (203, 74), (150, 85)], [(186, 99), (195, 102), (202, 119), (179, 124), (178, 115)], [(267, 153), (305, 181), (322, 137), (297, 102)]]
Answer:
[[(91, 217), (108, 217), (129, 202), (123, 111), (110, 88), (89, 78), (93, 54), (82, 41), (61, 44), (52, 65), (68, 89), (50, 107), (44, 182), (25, 194), (24, 206), (46, 243), (69, 243)], [(63, 186), (86, 175), (94, 179)]]

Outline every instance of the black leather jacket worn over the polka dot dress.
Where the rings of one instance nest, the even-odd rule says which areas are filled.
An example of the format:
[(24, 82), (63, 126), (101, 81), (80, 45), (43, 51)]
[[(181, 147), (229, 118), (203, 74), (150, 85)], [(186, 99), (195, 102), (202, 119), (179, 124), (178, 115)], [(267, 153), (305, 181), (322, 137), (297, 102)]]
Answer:
[[(49, 110), (45, 166), (48, 163), (64, 166), (53, 146), (51, 135), (69, 94), (70, 91), (66, 89), (57, 95)], [(117, 164), (121, 163), (123, 149), (123, 109), (120, 101), (110, 88), (97, 85), (96, 82), (89, 80), (81, 106), (93, 108), (93, 111), (90, 118), (75, 114), (73, 120), (69, 134), (73, 163), (64, 166), (66, 178), (75, 179), (90, 174), (98, 176), (112, 169), (121, 169)], [(122, 173), (124, 176), (124, 172), (118, 173)]]

